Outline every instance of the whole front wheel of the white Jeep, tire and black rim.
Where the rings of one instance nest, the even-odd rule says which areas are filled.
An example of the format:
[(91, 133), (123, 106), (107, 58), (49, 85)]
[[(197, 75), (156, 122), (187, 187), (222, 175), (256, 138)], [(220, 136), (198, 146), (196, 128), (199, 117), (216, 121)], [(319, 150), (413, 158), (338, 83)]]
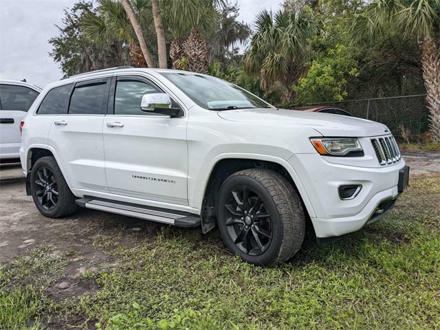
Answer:
[(241, 170), (225, 179), (217, 223), (226, 247), (254, 265), (284, 263), (300, 250), (305, 236), (298, 193), (285, 177), (267, 169)]

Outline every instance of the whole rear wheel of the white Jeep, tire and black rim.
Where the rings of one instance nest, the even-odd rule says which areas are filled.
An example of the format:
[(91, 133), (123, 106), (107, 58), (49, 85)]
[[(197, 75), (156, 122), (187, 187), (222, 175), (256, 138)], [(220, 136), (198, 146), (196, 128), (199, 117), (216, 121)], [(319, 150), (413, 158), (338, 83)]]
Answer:
[(30, 186), (35, 206), (45, 217), (66, 217), (78, 208), (76, 197), (67, 186), (54, 157), (41, 157), (35, 162), (30, 175)]

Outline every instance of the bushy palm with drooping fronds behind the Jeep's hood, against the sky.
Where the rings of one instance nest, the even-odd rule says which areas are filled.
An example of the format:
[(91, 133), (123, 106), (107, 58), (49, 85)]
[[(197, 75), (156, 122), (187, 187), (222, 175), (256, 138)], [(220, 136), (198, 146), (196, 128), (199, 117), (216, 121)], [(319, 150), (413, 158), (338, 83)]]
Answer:
[(285, 102), (294, 102), (292, 85), (307, 70), (310, 55), (308, 40), (321, 30), (321, 22), (305, 6), (298, 12), (280, 10), (275, 16), (263, 10), (255, 21), (256, 30), (245, 52), (248, 74), (260, 76), (265, 90), (280, 87)]

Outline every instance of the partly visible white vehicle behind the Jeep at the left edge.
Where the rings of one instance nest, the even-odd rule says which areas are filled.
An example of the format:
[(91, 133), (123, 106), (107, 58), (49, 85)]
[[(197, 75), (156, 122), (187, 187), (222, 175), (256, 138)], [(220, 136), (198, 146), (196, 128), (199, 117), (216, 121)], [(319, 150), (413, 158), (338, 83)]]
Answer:
[(0, 80), (0, 161), (19, 159), (20, 122), (40, 91), (22, 81)]

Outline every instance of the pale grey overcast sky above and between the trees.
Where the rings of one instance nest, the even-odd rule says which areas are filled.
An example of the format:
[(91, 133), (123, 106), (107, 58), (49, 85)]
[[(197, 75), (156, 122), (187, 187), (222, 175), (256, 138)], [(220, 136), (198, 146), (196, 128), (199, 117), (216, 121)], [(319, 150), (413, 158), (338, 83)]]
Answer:
[[(0, 79), (21, 80), (44, 87), (62, 77), (49, 56), (47, 41), (58, 34), (63, 10), (75, 0), (0, 0)], [(282, 0), (238, 0), (240, 20), (252, 23), (257, 12), (276, 11)]]

